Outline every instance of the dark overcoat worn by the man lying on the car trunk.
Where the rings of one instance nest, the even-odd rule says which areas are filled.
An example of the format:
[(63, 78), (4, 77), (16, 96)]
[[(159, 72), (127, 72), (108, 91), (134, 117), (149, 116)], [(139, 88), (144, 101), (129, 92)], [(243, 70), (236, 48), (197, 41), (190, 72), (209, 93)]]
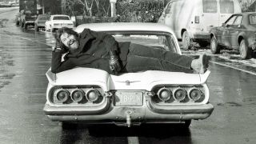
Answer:
[(62, 61), (62, 52), (52, 53), (51, 71), (59, 73), (76, 66), (106, 70), (111, 73), (109, 66), (109, 52), (116, 51), (121, 60), (122, 68), (126, 65), (126, 58), (130, 42), (117, 42), (110, 34), (85, 29), (79, 34), (79, 49), (67, 53)]

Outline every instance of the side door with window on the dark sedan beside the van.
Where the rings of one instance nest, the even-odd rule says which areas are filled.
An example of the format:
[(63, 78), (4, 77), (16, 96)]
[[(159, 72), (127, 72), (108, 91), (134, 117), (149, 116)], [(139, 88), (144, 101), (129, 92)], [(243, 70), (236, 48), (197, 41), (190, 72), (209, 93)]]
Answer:
[(218, 31), (218, 42), (220, 42), (223, 46), (230, 47), (230, 30), (232, 30), (232, 26), (234, 24), (234, 20), (237, 18), (237, 15), (232, 15), (220, 28)]

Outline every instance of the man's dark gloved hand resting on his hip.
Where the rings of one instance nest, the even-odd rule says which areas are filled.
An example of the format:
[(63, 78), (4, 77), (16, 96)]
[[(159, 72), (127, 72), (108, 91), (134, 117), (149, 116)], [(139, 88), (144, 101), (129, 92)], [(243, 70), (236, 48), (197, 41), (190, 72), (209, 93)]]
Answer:
[(121, 70), (121, 66), (118, 62), (118, 56), (115, 54), (115, 51), (110, 50), (109, 63), (112, 74), (118, 74), (118, 72)]

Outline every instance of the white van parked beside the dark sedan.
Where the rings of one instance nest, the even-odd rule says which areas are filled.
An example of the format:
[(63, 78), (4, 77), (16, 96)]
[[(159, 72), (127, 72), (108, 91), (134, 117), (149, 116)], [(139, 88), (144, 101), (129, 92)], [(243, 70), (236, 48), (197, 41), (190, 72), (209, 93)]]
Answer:
[(170, 26), (184, 50), (190, 49), (192, 42), (199, 46), (209, 44), (209, 30), (222, 23), (231, 14), (240, 13), (238, 0), (170, 0), (158, 22)]

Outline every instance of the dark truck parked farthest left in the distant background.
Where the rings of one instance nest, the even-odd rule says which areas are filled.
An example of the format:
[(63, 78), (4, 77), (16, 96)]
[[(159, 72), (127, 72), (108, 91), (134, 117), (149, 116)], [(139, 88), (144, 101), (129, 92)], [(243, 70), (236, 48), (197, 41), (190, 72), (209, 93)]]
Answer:
[(20, 25), (26, 29), (27, 26), (34, 26), (34, 21), (38, 18), (39, 10), (21, 10)]

